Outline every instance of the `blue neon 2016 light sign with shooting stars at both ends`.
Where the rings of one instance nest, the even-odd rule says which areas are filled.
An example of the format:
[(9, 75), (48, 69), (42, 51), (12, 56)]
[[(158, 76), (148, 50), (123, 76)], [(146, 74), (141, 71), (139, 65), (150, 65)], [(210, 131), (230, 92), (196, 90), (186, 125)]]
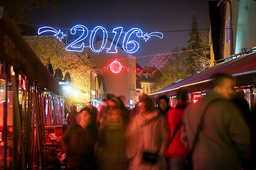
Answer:
[[(55, 28), (52, 27), (41, 27), (38, 29), (38, 35), (41, 35), (42, 33), (55, 33), (55, 37), (62, 41), (64, 37), (67, 37), (61, 30), (55, 30)], [(80, 34), (78, 33), (80, 32)], [(87, 38), (89, 34), (89, 30), (87, 27), (82, 25), (76, 25), (70, 30), (71, 35), (76, 35), (77, 38), (70, 42), (70, 44), (67, 43), (67, 47), (65, 50), (67, 51), (74, 51), (74, 52), (82, 52), (85, 47), (90, 47), (90, 49), (93, 52), (101, 52), (103, 49), (107, 48), (107, 53), (117, 53), (117, 45), (119, 44), (119, 41), (122, 37), (122, 48), (125, 52), (132, 54), (134, 52), (137, 52), (139, 50), (139, 42), (137, 40), (134, 40), (134, 38), (143, 38), (145, 42), (149, 40), (151, 37), (157, 37), (157, 38), (164, 38), (164, 34), (160, 32), (153, 32), (153, 33), (144, 33), (139, 28), (132, 28), (127, 33), (123, 31), (122, 27), (117, 27), (112, 30), (113, 38), (111, 40), (110, 46), (106, 47), (107, 40), (109, 38), (109, 33), (107, 30), (102, 26), (95, 27), (90, 34), (90, 40), (89, 40), (89, 46), (85, 45), (85, 38)], [(95, 36), (97, 33), (102, 32), (102, 44), (98, 49), (95, 48)]]

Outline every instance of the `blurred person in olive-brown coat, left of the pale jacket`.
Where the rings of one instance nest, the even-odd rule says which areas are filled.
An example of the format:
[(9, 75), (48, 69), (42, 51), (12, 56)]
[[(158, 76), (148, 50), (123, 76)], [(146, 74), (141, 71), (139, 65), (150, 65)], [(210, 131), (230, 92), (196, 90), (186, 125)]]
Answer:
[(127, 120), (120, 108), (112, 108), (107, 112), (106, 125), (100, 129), (97, 143), (97, 159), (100, 170), (125, 170), (124, 133)]

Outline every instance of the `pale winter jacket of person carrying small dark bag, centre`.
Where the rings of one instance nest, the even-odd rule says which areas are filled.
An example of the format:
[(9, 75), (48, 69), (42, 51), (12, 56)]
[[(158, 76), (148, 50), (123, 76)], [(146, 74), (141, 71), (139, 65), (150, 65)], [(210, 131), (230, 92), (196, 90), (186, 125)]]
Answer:
[[(128, 169), (164, 169), (168, 131), (162, 116), (157, 112), (152, 112), (145, 117), (141, 114), (135, 115), (127, 127), (126, 137)], [(156, 164), (143, 162), (143, 152), (159, 153), (158, 162)]]

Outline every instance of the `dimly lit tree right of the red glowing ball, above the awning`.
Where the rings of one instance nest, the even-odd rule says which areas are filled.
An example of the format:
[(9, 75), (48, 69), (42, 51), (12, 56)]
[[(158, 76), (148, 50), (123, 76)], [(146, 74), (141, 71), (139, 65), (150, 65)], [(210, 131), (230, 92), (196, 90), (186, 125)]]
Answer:
[(190, 70), (188, 69), (188, 65), (190, 64), (188, 61), (188, 52), (178, 52), (186, 51), (186, 48), (180, 50), (176, 47), (173, 51), (174, 53), (171, 53), (166, 66), (160, 69), (162, 77), (159, 81), (156, 81), (155, 88), (157, 91), (174, 84), (180, 79), (191, 77)]

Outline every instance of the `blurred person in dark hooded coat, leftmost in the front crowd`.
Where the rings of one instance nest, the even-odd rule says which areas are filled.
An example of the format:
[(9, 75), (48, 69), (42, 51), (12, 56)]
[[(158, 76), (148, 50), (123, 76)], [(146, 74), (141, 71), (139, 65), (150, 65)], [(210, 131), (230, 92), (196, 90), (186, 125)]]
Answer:
[(92, 120), (91, 109), (85, 106), (75, 115), (62, 139), (62, 148), (67, 155), (68, 169), (93, 170), (97, 169), (95, 161), (95, 143), (97, 128)]

